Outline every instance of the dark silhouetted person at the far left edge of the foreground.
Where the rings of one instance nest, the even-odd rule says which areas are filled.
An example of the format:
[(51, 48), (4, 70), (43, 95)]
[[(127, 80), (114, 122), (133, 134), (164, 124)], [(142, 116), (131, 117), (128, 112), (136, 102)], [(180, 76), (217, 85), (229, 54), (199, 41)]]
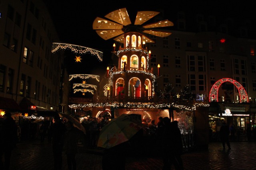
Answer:
[[(12, 118), (12, 114), (10, 112), (6, 112), (1, 128), (1, 146), (3, 147), (0, 149), (0, 169), (9, 170), (12, 150), (16, 146), (17, 138), (17, 125)], [(4, 162), (2, 162), (3, 156)]]

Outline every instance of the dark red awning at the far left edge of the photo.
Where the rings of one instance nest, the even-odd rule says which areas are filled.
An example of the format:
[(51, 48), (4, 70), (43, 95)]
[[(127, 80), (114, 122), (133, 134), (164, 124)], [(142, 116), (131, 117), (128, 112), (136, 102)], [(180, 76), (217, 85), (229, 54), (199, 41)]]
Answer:
[(0, 109), (8, 111), (20, 111), (19, 105), (10, 98), (0, 97)]

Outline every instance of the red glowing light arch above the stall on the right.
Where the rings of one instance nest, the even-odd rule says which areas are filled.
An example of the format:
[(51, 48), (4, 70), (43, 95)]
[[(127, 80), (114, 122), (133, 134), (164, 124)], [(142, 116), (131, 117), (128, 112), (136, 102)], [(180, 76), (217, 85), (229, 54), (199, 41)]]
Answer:
[(233, 80), (232, 78), (222, 78), (214, 83), (214, 85), (212, 86), (212, 88), (210, 90), (209, 102), (218, 102), (218, 90), (220, 88), (220, 85), (224, 82), (231, 82), (232, 84), (234, 84), (236, 86), (236, 88), (238, 89), (238, 92), (239, 92), (239, 96), (240, 96), (240, 103), (248, 102), (248, 95), (247, 95), (244, 87), (239, 82), (237, 82), (236, 80)]

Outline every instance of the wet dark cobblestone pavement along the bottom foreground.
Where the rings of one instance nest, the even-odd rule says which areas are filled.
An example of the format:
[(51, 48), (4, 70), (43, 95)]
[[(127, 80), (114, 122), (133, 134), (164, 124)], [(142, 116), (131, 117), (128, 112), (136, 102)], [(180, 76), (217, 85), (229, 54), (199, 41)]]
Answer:
[[(256, 170), (256, 142), (231, 142), (231, 149), (223, 150), (220, 142), (212, 142), (208, 150), (182, 154), (185, 170)], [(103, 150), (80, 148), (76, 156), (78, 170), (102, 170)], [(63, 170), (67, 170), (66, 156)], [(161, 170), (162, 159), (158, 156), (129, 154), (126, 170)], [(53, 156), (50, 143), (29, 141), (18, 143), (12, 152), (11, 170), (52, 170)]]

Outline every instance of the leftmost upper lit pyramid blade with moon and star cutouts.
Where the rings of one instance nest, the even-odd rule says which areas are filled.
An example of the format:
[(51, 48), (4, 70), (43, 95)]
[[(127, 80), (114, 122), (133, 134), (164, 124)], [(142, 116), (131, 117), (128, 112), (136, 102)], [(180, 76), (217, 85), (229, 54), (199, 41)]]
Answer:
[(122, 29), (123, 25), (97, 17), (92, 23), (92, 29)]

